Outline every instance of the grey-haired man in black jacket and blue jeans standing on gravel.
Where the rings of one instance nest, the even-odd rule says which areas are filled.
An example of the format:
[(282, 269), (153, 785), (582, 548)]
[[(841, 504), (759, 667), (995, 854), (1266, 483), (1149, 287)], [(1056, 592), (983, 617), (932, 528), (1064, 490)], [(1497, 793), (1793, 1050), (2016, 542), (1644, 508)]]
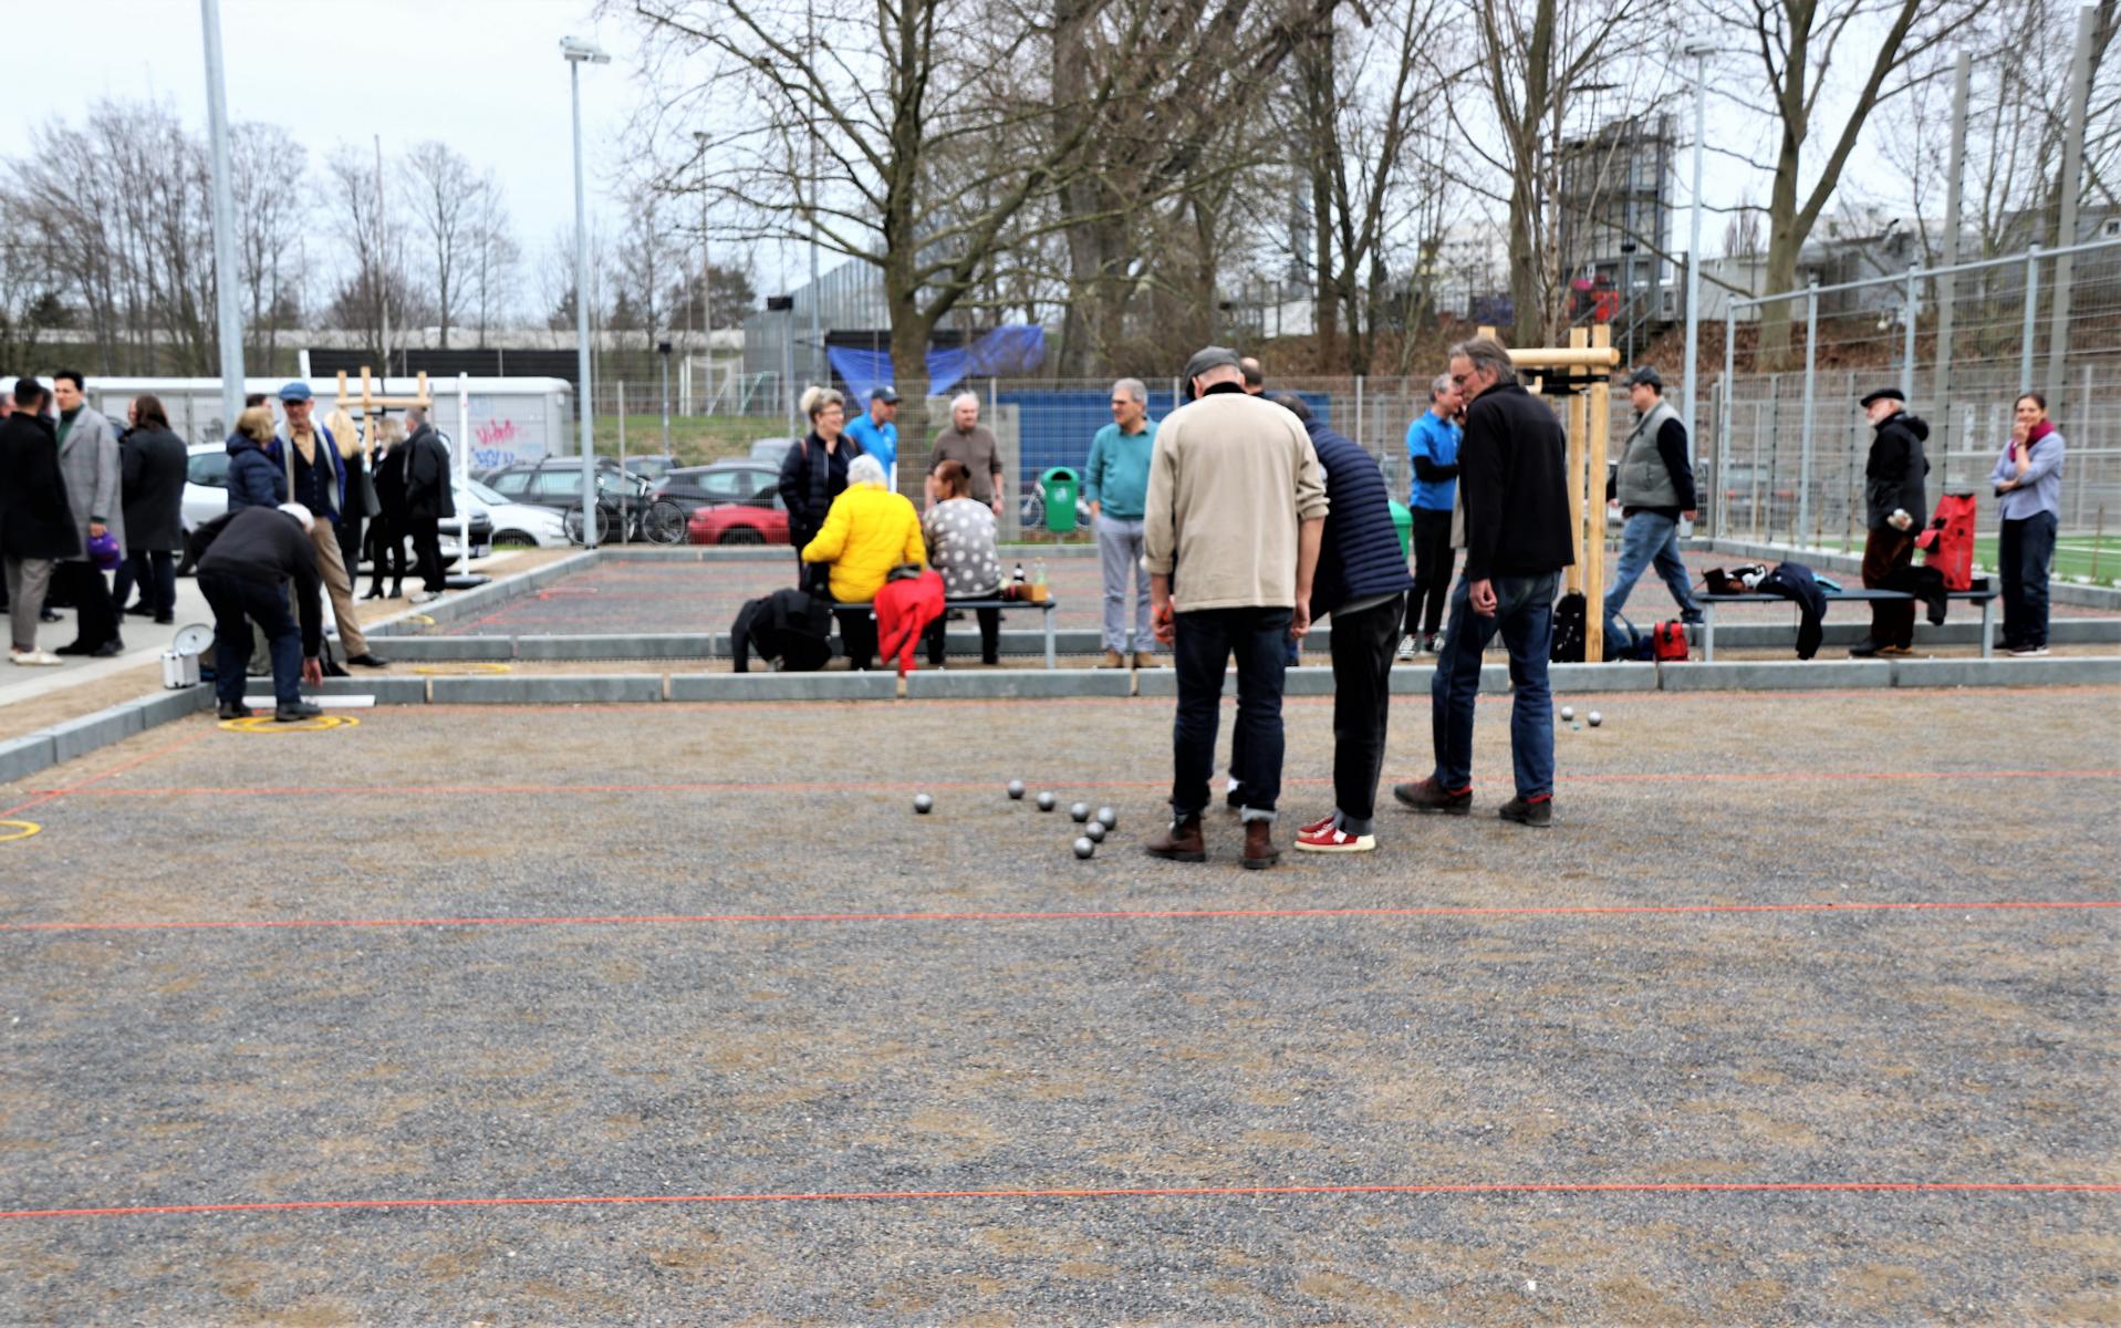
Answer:
[(1555, 704), (1546, 660), (1561, 569), (1570, 543), (1567, 437), (1544, 401), (1517, 382), (1510, 352), (1493, 337), (1451, 348), (1451, 382), (1466, 395), (1459, 484), (1466, 501), (1466, 573), (1451, 592), (1451, 626), (1430, 685), (1436, 772), (1393, 787), (1421, 812), (1472, 810), (1472, 706), (1480, 651), (1502, 632), (1510, 647), (1510, 759), (1517, 798), (1504, 821), (1550, 825), (1555, 806)]

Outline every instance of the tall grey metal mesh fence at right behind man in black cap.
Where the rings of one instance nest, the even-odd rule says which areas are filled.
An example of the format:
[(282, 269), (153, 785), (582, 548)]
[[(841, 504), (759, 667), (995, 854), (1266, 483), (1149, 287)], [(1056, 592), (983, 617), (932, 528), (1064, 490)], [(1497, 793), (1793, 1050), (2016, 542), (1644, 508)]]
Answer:
[[(1765, 344), (1775, 303), (1786, 348)], [(1701, 420), (1710, 528), (1860, 547), (1858, 399), (1877, 388), (1930, 424), (1932, 499), (1977, 494), (1983, 528), (2015, 401), (2045, 392), (2068, 439), (2062, 530), (2104, 535), (2121, 520), (2121, 240), (1731, 301)]]

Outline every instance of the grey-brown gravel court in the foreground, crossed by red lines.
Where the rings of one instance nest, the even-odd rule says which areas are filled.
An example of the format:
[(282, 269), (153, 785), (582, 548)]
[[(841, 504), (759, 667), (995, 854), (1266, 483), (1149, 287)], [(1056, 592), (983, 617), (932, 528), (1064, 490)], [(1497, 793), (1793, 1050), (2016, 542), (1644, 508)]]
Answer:
[[(0, 791), (110, 772), (6, 812), (45, 834), (0, 844), (0, 921), (2102, 899), (2115, 696), (1597, 698), (1546, 836), (1491, 819), (1508, 709), (1483, 702), (1480, 815), (1387, 812), (1389, 853), (1268, 874), (1220, 819), (1224, 861), (1133, 849), (1156, 700), (199, 719)], [(1425, 706), (1398, 717), (1387, 779), (1425, 747)], [(1330, 709), (1290, 728), (1292, 772), (1324, 772)], [(882, 787), (812, 787), (863, 751)], [(1877, 770), (1907, 779), (1826, 779)], [(1075, 863), (1010, 776), (1122, 829)], [(464, 791), (407, 791), (441, 785)], [(344, 791), (233, 791), (276, 787)], [(288, 883), (280, 842), (320, 866)], [(4, 1207), (2115, 1184), (2113, 940), (2104, 910), (0, 931), (28, 1067), (0, 1175)], [(32, 1275), (0, 1320), (2055, 1322), (2121, 1311), (2113, 1216), (1733, 1192), (11, 1220), (0, 1262)]]

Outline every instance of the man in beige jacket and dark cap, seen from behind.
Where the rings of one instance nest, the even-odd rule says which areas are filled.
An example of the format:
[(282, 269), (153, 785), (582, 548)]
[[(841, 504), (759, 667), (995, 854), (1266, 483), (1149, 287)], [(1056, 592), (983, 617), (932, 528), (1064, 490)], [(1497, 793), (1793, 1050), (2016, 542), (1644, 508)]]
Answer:
[(1164, 416), (1150, 460), (1143, 564), (1150, 624), (1173, 647), (1171, 827), (1152, 857), (1205, 861), (1200, 812), (1215, 774), (1222, 675), (1237, 656), (1243, 863), (1270, 868), (1281, 793), (1281, 681), (1290, 636), (1311, 630), (1311, 573), (1326, 526), (1326, 479), (1302, 422), (1245, 395), (1237, 352), (1186, 363), (1192, 401)]

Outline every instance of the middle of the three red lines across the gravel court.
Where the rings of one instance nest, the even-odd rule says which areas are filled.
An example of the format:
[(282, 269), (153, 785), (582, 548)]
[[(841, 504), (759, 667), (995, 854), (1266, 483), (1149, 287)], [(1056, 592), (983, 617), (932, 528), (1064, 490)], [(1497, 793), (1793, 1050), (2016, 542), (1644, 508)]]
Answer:
[(1485, 916), (1671, 916), (1714, 912), (2085, 912), (2121, 908), (2121, 899), (1977, 899), (1951, 904), (1521, 904), (1427, 908), (1082, 908), (1082, 910), (965, 910), (965, 912), (700, 912), (700, 914), (581, 914), (581, 916), (460, 916), (460, 919), (223, 919), (193, 923), (0, 923), (0, 931), (299, 931), (329, 927), (672, 927), (738, 923), (1103, 923), (1103, 921), (1279, 921), (1279, 919), (1485, 919)]

